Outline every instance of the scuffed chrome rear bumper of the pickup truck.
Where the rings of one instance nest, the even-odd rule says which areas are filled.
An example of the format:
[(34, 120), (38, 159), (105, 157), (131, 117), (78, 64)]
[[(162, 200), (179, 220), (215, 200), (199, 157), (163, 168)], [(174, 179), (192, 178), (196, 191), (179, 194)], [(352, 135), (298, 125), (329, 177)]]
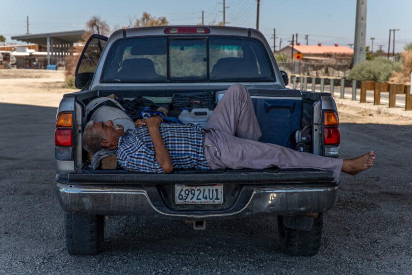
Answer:
[(298, 215), (324, 212), (336, 202), (337, 186), (326, 188), (255, 188), (249, 201), (230, 213), (184, 213), (155, 207), (144, 188), (106, 188), (57, 184), (57, 196), (65, 211), (97, 215), (138, 215), (184, 220), (242, 218), (261, 213)]

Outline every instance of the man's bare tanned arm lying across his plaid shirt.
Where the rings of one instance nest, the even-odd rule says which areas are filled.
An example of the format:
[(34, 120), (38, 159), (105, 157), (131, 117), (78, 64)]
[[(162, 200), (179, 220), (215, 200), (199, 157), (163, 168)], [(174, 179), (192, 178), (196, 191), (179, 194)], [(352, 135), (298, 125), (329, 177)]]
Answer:
[(169, 152), (164, 145), (163, 138), (160, 136), (159, 126), (162, 119), (160, 117), (150, 117), (147, 119), (146, 125), (149, 129), (150, 137), (152, 138), (154, 147), (154, 157), (162, 167), (165, 173), (173, 171), (172, 161), (170, 160)]

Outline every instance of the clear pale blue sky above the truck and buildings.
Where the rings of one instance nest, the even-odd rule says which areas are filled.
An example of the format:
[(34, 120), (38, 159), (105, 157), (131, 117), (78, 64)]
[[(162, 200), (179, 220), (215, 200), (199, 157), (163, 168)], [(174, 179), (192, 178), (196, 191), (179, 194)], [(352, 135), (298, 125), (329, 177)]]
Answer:
[[(141, 17), (144, 11), (152, 16), (165, 16), (170, 25), (205, 25), (223, 19), (223, 0), (0, 0), (0, 34), (10, 36), (29, 32), (44, 33), (84, 29), (94, 15), (101, 16), (113, 28), (127, 26), (129, 19)], [(226, 0), (227, 26), (256, 27), (256, 0)], [(276, 28), (276, 50), (298, 33), (298, 41), (309, 45), (347, 46), (354, 41), (356, 0), (260, 0), (259, 30), (273, 46)], [(397, 28), (395, 51), (412, 42), (412, 0), (367, 0), (366, 45), (375, 37), (374, 50), (383, 45), (387, 51), (389, 29)], [(19, 42), (21, 43), (21, 42)], [(392, 47), (392, 42), (391, 46)], [(390, 50), (392, 51), (392, 49)]]

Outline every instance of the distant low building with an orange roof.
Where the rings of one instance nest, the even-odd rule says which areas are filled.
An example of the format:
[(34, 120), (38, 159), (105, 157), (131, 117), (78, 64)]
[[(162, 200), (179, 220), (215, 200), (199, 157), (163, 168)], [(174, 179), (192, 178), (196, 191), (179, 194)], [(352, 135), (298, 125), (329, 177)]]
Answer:
[[(276, 54), (283, 53), (289, 58), (292, 56), (292, 45), (287, 45), (281, 50), (277, 51)], [(351, 62), (353, 56), (353, 49), (345, 46), (324, 46), (322, 44), (318, 45), (294, 45), (293, 55), (296, 53), (301, 53), (303, 55), (304, 61), (321, 61), (321, 60), (331, 60), (334, 59), (336, 62)]]

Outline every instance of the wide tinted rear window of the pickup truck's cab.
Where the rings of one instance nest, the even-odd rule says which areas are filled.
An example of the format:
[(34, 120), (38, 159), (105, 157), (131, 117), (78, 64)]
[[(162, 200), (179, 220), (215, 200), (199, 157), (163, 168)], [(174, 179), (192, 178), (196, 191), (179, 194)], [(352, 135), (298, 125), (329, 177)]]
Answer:
[(111, 47), (103, 83), (276, 81), (251, 38), (125, 38)]

